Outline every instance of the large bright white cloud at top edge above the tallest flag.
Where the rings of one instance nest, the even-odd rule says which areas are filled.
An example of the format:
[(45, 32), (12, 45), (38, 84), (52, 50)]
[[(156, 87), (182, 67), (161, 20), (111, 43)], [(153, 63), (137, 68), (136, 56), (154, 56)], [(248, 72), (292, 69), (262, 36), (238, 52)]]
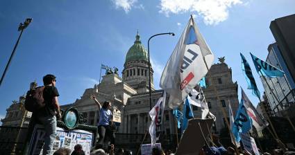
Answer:
[(169, 14), (197, 12), (207, 25), (216, 25), (228, 19), (228, 9), (242, 0), (160, 0), (160, 12)]

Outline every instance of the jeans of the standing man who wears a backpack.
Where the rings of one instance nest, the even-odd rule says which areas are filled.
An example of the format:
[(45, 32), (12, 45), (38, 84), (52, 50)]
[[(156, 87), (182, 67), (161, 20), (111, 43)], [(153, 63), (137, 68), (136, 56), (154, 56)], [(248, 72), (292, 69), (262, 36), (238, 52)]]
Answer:
[(53, 142), (56, 139), (56, 116), (39, 117), (38, 120), (44, 125), (43, 155), (47, 155), (50, 154)]

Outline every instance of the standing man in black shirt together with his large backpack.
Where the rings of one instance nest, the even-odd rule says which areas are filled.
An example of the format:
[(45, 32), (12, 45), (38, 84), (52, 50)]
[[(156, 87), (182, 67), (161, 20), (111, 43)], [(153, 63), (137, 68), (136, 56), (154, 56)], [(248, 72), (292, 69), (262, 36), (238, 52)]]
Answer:
[(32, 112), (29, 129), (32, 129), (36, 123), (44, 126), (45, 136), (42, 154), (46, 155), (51, 152), (53, 141), (56, 138), (56, 118), (60, 119), (61, 114), (58, 103), (59, 93), (58, 89), (56, 89), (56, 76), (51, 74), (45, 75), (43, 83), (44, 86), (28, 91), (25, 107), (26, 110)]

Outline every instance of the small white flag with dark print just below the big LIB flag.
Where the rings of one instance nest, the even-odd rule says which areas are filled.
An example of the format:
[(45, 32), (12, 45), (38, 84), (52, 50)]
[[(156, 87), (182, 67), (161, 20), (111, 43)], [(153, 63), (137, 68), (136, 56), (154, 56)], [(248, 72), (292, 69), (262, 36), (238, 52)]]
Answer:
[(192, 89), (192, 91), (189, 93), (189, 96), (187, 96), (187, 99), (189, 100), (190, 104), (193, 104), (197, 107), (201, 107), (202, 110), (202, 119), (213, 118), (213, 120), (216, 120), (216, 117), (209, 111), (208, 104), (205, 100), (205, 95), (203, 93), (203, 90), (201, 89), (201, 86), (199, 87), (199, 91), (196, 91), (196, 89)]

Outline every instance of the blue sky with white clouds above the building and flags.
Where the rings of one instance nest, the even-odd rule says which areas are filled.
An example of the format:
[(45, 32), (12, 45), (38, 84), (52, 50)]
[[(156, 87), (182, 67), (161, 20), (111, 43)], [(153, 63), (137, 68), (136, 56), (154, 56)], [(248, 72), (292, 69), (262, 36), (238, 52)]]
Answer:
[[(267, 47), (275, 42), (270, 22), (294, 14), (294, 6), (294, 0), (1, 0), (1, 75), (19, 36), (19, 23), (27, 17), (33, 21), (24, 30), (0, 86), (0, 118), (12, 100), (26, 93), (30, 82), (41, 85), (47, 73), (57, 77), (60, 104), (73, 103), (85, 89), (98, 84), (101, 64), (117, 67), (121, 76), (137, 30), (146, 48), (152, 35), (176, 34), (150, 42), (154, 84), (160, 89), (162, 71), (190, 15), (214, 53), (214, 62), (225, 56), (233, 82), (246, 89), (239, 56), (243, 53), (262, 93), (249, 53), (265, 60)], [(256, 105), (258, 98), (245, 91)]]

